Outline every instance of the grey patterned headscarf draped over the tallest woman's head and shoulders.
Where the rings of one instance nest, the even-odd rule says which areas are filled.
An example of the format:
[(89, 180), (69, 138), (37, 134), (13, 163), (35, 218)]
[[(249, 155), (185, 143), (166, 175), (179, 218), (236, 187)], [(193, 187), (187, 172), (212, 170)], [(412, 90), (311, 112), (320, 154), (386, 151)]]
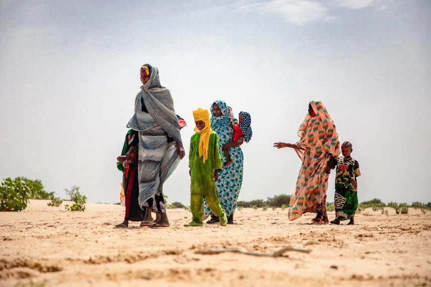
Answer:
[(157, 67), (150, 64), (145, 65), (149, 67), (150, 78), (141, 86), (141, 91), (136, 95), (134, 117), (136, 116), (136, 110), (141, 109), (141, 101), (143, 100), (148, 113), (154, 120), (170, 137), (182, 145), (178, 117), (173, 108), (170, 91), (161, 86)]

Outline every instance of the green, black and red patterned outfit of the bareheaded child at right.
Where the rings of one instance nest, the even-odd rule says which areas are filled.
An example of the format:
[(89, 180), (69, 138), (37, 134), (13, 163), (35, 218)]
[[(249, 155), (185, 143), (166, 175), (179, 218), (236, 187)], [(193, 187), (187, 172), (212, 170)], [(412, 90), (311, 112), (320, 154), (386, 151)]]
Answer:
[(358, 207), (356, 177), (361, 175), (359, 163), (353, 157), (340, 156), (334, 159), (337, 165), (335, 176), (335, 219), (347, 220), (355, 215)]

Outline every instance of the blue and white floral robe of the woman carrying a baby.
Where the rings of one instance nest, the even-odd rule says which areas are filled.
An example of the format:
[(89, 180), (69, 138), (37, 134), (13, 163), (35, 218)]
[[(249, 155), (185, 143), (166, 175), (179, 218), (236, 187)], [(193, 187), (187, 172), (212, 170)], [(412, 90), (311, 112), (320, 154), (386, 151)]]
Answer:
[[(233, 129), (231, 122), (227, 116), (228, 106), (223, 100), (216, 100), (222, 111), (221, 116), (214, 116), (211, 105), (211, 129), (217, 132), (219, 137), (219, 151), (222, 162), (226, 162), (227, 158), (222, 150), (222, 146), (232, 140)], [(226, 216), (230, 216), (237, 208), (238, 195), (240, 194), (241, 184), (243, 183), (243, 161), (244, 155), (240, 146), (234, 146), (229, 149), (232, 163), (223, 167), (219, 172), (219, 179), (215, 181), (217, 194), (219, 195), (220, 203), (226, 212)], [(204, 202), (205, 215), (211, 215), (206, 202)]]

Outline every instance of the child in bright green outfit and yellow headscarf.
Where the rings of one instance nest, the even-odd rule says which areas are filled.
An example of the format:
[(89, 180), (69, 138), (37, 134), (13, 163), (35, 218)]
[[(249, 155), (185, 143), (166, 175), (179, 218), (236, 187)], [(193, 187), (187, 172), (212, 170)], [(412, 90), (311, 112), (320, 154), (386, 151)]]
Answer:
[(196, 132), (190, 139), (190, 152), (188, 154), (188, 167), (190, 167), (190, 210), (192, 220), (184, 226), (202, 226), (202, 202), (206, 203), (215, 216), (220, 217), (220, 225), (226, 226), (228, 219), (225, 210), (220, 204), (215, 180), (222, 170), (222, 160), (219, 152), (219, 138), (212, 131), (209, 124), (207, 109), (193, 110)]

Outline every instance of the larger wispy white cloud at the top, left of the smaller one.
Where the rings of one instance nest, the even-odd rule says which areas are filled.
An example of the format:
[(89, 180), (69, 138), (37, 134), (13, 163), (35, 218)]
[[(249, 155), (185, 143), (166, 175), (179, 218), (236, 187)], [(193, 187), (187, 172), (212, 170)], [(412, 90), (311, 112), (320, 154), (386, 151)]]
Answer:
[(330, 20), (327, 8), (317, 1), (270, 0), (244, 4), (240, 9), (281, 15), (287, 22), (304, 24), (311, 21)]

